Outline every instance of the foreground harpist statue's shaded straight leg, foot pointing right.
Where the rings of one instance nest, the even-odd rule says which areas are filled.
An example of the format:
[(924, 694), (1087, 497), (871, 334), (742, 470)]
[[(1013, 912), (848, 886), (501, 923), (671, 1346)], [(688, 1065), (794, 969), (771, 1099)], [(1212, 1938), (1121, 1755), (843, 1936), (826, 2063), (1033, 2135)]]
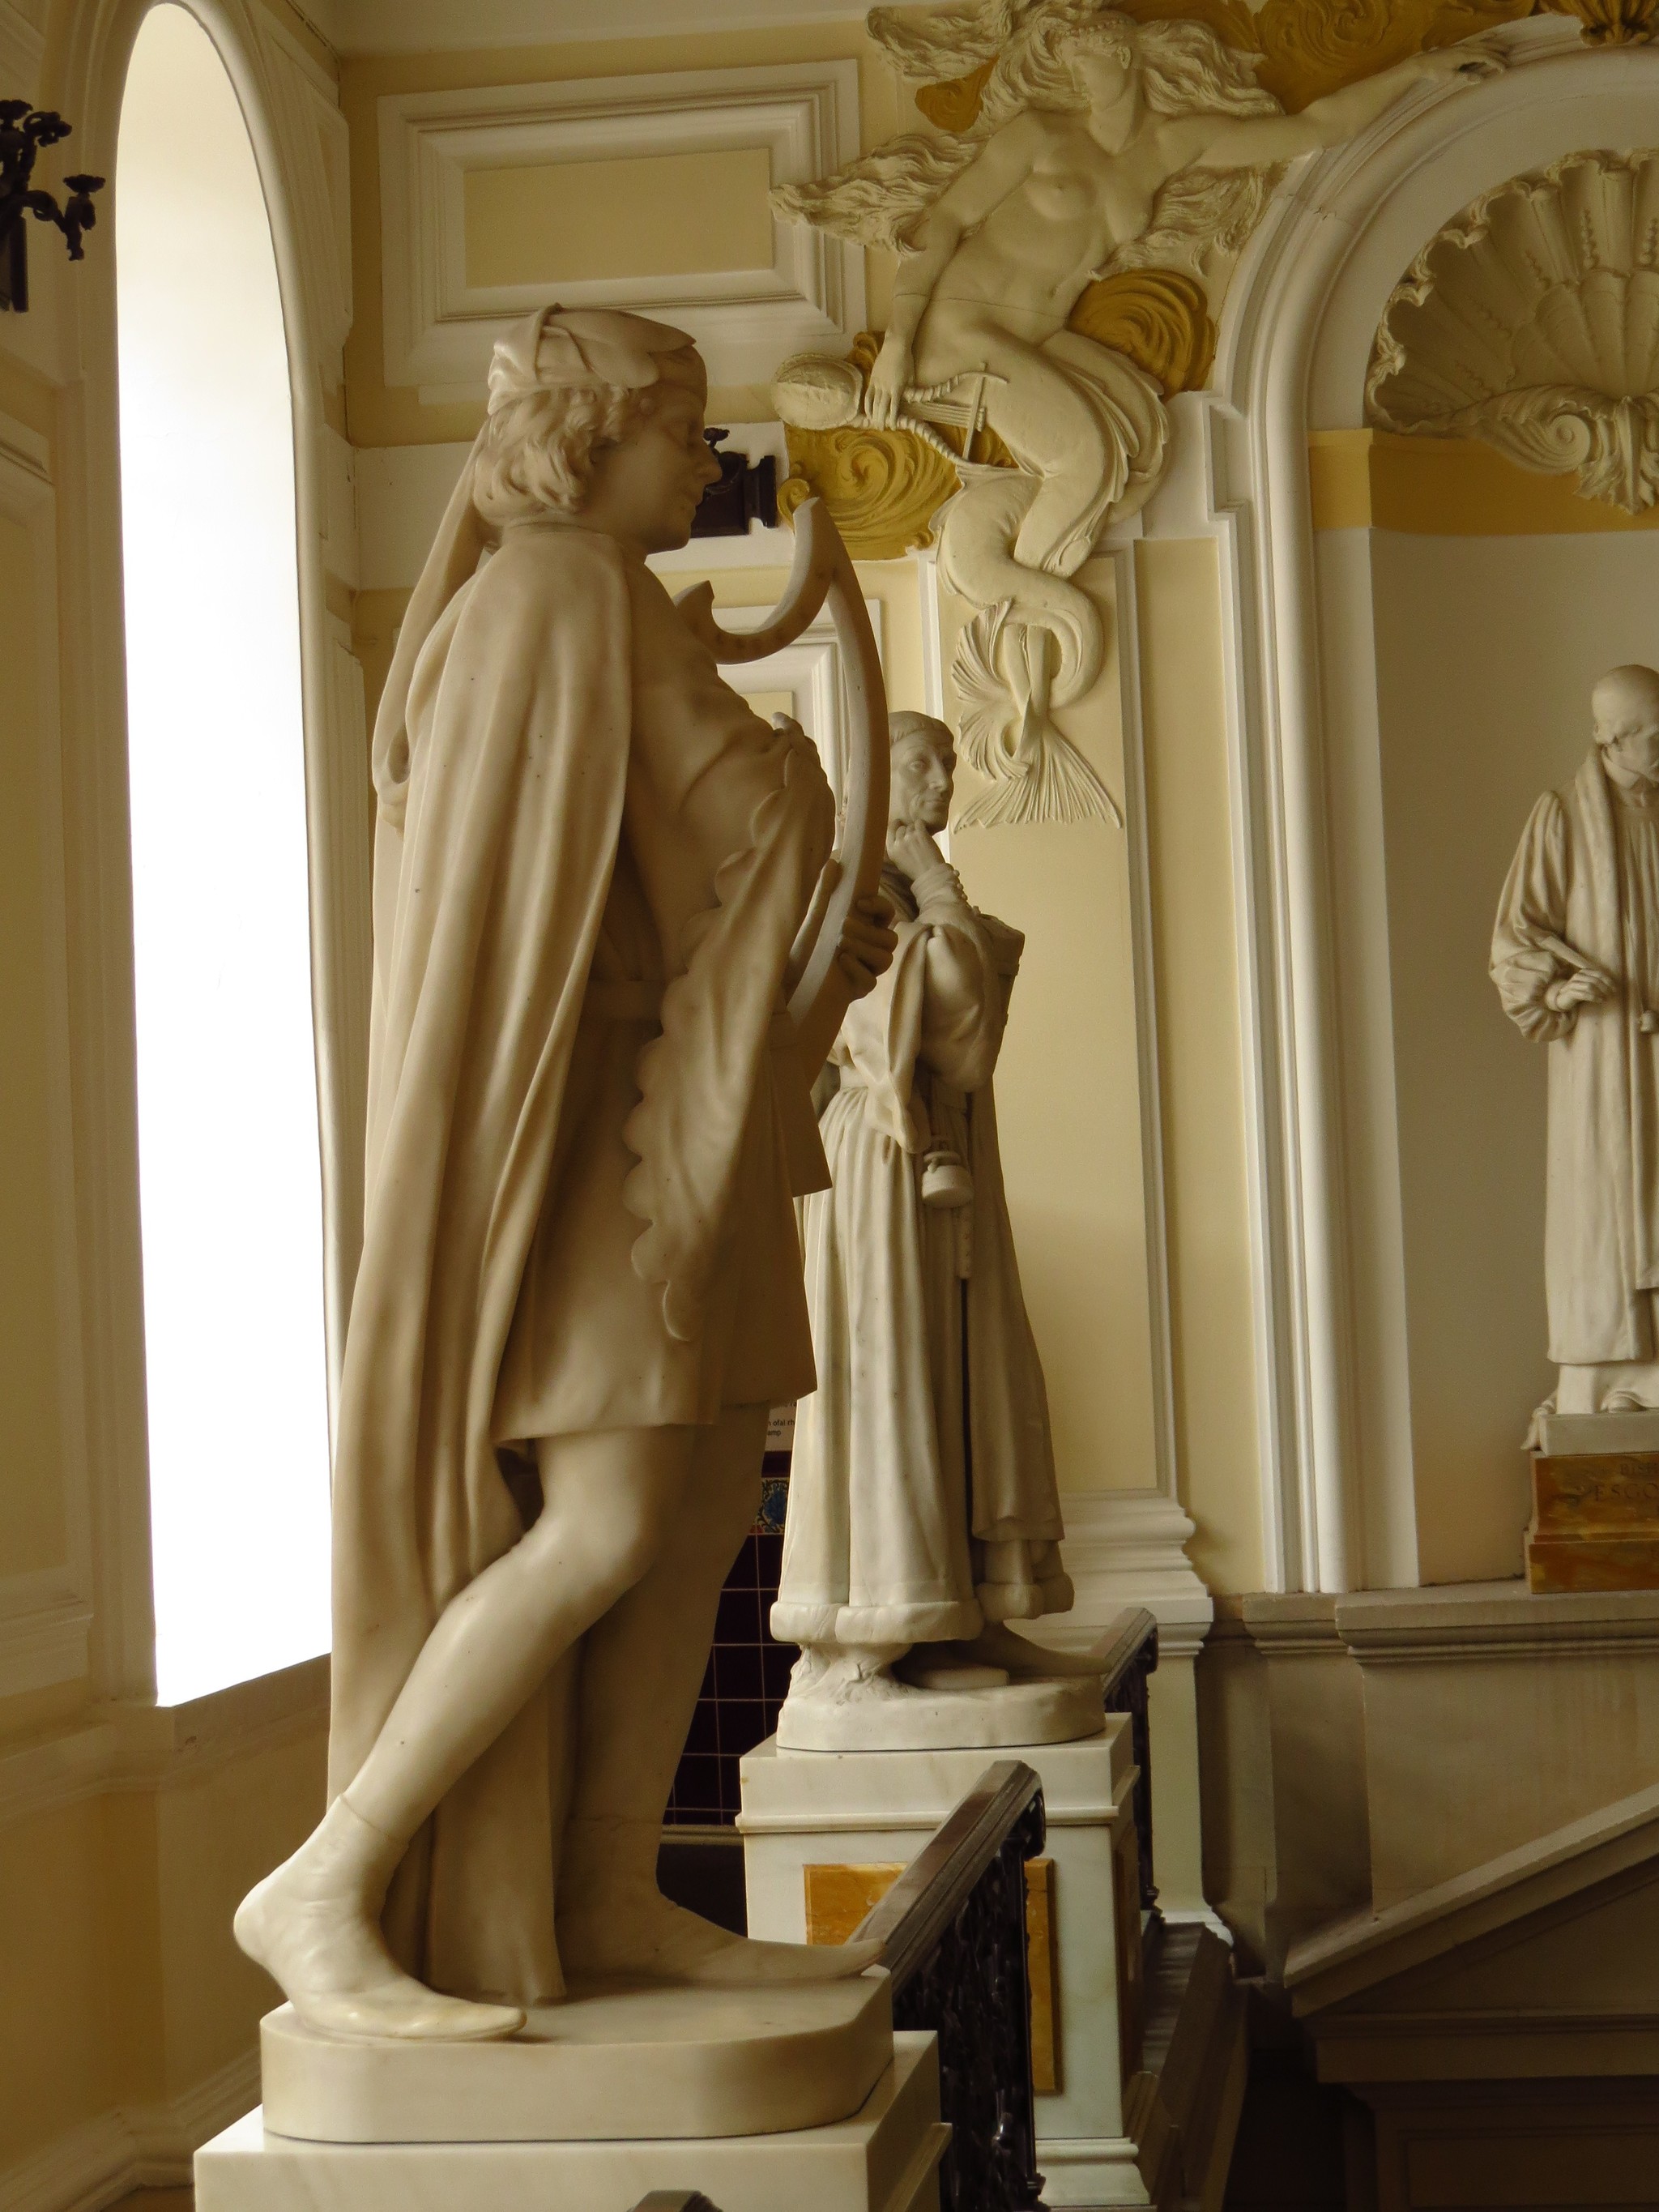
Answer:
[(719, 1593), (754, 1522), (765, 1409), (699, 1433), (657, 1564), (582, 1648), (582, 1765), (560, 1854), (560, 1960), (580, 1980), (821, 1982), (876, 1944), (750, 1942), (657, 1889), (661, 1814), (703, 1677)]

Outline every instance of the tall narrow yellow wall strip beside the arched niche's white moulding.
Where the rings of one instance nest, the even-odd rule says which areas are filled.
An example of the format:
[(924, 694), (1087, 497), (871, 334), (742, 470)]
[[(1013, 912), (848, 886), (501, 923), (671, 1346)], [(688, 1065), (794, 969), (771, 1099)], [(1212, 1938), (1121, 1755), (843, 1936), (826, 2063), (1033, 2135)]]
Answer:
[(1170, 1336), (1188, 1555), (1259, 1590), (1254, 1283), (1245, 1199), (1221, 580), (1212, 540), (1137, 546), (1146, 818), (1170, 1241)]

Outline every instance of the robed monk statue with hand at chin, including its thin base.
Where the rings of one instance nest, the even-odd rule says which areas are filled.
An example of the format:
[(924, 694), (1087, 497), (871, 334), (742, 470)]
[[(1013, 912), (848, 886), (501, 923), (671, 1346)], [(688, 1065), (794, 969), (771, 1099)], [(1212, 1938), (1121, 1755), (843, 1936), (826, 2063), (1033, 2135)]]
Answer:
[(1006, 1626), (1073, 1599), (991, 1091), (1024, 938), (967, 902), (936, 845), (949, 728), (894, 714), (889, 732), (898, 953), (836, 1040), (818, 1124), (832, 1188), (803, 1208), (818, 1389), (796, 1407), (772, 1608), (772, 1635), (803, 1646), (779, 1743), (1088, 1734), (1097, 1686), (1018, 1694), (1015, 1732), (989, 1739), (949, 1697), (1093, 1670)]

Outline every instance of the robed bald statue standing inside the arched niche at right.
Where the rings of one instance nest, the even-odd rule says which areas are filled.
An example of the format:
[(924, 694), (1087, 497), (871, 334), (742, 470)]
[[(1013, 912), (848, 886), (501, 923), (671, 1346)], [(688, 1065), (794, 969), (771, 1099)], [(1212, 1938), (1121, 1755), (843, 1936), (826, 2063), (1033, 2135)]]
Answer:
[(1551, 1057), (1546, 1413), (1659, 1407), (1659, 670), (1608, 670), (1590, 712), (1595, 745), (1533, 807), (1491, 945), (1504, 1013)]

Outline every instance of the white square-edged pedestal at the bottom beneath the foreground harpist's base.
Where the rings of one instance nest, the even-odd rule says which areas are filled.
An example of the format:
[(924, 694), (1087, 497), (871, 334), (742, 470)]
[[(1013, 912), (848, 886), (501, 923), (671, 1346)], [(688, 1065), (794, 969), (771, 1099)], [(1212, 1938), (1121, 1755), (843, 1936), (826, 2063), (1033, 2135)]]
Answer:
[[(458, 2048), (458, 2046), (451, 2046)], [(633, 2212), (701, 2190), (719, 2212), (938, 2212), (931, 2035), (896, 2035), (863, 2108), (827, 2128), (650, 2141), (316, 2143), (248, 2112), (197, 2152), (197, 2212)]]

